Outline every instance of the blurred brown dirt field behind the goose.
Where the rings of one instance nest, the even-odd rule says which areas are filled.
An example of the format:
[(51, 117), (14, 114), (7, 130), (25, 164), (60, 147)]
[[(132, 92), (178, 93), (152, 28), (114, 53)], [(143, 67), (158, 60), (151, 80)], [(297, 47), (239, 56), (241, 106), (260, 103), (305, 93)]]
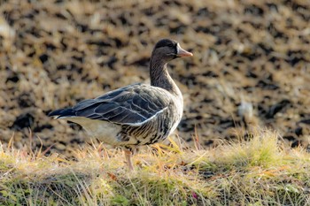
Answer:
[[(185, 108), (178, 134), (204, 145), (260, 126), (291, 146), (310, 138), (310, 1), (19, 1), (0, 6), (0, 140), (69, 154), (89, 137), (51, 110), (149, 82), (154, 43)], [(31, 128), (29, 134), (28, 127)], [(29, 137), (32, 138), (29, 138)]]

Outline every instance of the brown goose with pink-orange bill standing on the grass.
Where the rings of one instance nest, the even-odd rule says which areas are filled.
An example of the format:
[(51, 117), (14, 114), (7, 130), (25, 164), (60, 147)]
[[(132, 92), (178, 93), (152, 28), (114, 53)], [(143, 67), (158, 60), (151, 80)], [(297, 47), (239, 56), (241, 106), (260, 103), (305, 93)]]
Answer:
[(178, 42), (162, 39), (155, 44), (150, 60), (150, 84), (136, 83), (83, 100), (71, 108), (51, 111), (49, 116), (81, 125), (89, 135), (124, 148), (129, 170), (137, 146), (164, 141), (182, 118), (180, 89), (169, 75), (167, 63), (193, 56)]

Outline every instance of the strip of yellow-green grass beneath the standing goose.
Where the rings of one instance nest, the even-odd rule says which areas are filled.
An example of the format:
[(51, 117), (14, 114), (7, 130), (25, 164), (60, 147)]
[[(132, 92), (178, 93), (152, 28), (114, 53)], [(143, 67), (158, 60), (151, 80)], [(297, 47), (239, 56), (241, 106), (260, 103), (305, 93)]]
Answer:
[[(128, 172), (120, 149), (0, 147), (1, 205), (309, 205), (310, 155), (268, 131), (213, 149), (171, 141), (140, 150)], [(184, 146), (184, 144), (182, 144)]]

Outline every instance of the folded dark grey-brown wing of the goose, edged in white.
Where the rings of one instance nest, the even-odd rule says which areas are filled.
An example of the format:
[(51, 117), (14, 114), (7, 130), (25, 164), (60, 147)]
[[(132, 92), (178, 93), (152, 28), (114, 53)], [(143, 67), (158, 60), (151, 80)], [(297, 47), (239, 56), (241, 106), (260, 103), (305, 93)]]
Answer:
[(96, 99), (81, 101), (72, 108), (71, 113), (74, 117), (140, 126), (167, 110), (169, 103), (169, 96), (164, 89), (135, 84), (113, 90)]

